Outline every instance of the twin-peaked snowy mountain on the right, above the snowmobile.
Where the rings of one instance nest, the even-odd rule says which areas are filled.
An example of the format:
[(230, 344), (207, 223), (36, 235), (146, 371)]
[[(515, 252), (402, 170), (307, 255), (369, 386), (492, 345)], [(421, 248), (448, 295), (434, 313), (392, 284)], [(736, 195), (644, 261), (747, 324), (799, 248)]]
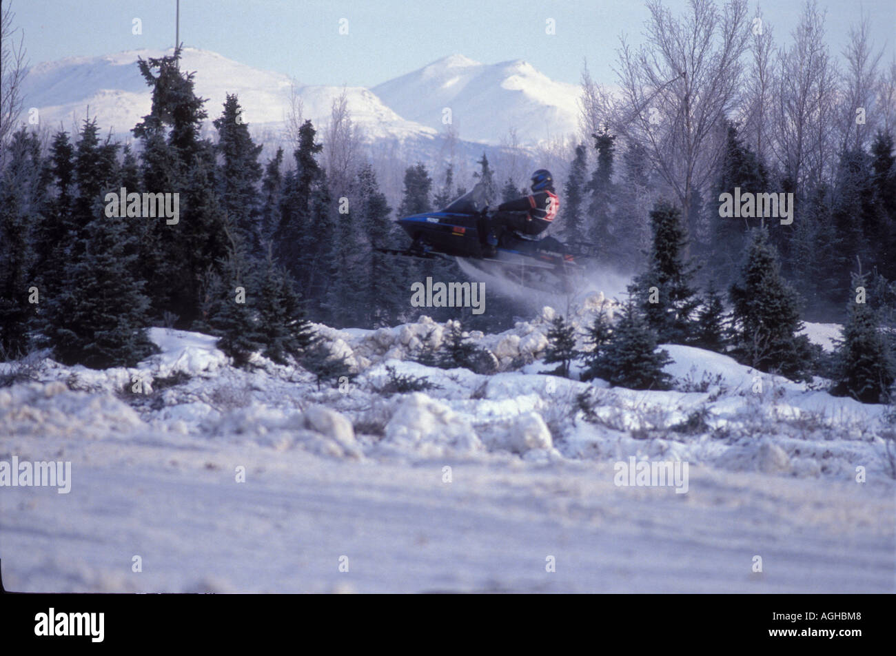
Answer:
[(538, 142), (576, 130), (579, 88), (555, 82), (516, 59), (481, 64), (447, 56), (373, 88), (401, 116), (443, 128), (444, 108), (462, 139), (497, 143), (510, 128), (521, 142)]

